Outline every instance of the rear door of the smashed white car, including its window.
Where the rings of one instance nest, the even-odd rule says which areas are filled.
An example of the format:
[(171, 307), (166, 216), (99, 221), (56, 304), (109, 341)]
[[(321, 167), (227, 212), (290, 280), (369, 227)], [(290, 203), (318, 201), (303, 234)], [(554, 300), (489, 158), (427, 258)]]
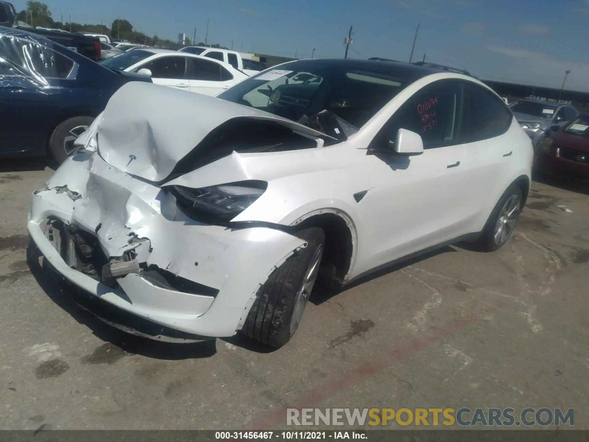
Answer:
[(516, 124), (513, 114), (492, 91), (464, 82), (464, 125), (461, 142), (465, 147), (465, 182), (470, 191), (464, 195), (468, 207), (469, 232), (482, 230), (499, 197), (511, 184), (512, 166), (519, 151), (512, 146), (507, 132)]

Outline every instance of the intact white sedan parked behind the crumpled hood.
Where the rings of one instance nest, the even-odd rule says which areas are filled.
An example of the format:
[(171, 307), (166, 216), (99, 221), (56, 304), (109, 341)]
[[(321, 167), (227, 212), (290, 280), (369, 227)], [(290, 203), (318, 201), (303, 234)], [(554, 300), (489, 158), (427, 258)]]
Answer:
[(134, 48), (100, 64), (149, 75), (154, 84), (203, 95), (217, 95), (248, 77), (221, 61), (167, 49)]

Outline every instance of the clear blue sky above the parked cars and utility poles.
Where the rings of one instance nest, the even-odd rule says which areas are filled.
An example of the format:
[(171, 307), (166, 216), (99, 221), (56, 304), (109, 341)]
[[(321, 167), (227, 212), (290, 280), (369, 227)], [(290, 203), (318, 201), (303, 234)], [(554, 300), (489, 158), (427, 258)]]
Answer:
[[(17, 11), (25, 0), (13, 0)], [(47, 0), (54, 19), (109, 24), (128, 19), (145, 34), (178, 32), (244, 51), (289, 57), (349, 57), (448, 64), (488, 80), (589, 91), (589, 0)]]

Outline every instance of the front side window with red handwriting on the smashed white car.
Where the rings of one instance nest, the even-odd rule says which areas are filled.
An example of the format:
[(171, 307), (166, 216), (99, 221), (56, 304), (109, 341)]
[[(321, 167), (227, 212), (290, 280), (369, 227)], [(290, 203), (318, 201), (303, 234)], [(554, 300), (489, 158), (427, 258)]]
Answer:
[(423, 87), (393, 114), (382, 136), (394, 140), (403, 128), (419, 134), (424, 149), (458, 144), (462, 95), (462, 84), (454, 80), (438, 80)]

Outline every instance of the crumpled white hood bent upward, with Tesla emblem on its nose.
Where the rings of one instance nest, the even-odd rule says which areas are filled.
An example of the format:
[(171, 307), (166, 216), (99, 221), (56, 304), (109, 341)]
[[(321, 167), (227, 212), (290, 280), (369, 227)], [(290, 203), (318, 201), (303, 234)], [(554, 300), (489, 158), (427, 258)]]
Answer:
[(252, 107), (132, 81), (112, 95), (102, 113), (97, 125), (98, 151), (111, 166), (160, 182), (210, 131), (232, 118), (276, 121), (300, 133), (334, 139)]

